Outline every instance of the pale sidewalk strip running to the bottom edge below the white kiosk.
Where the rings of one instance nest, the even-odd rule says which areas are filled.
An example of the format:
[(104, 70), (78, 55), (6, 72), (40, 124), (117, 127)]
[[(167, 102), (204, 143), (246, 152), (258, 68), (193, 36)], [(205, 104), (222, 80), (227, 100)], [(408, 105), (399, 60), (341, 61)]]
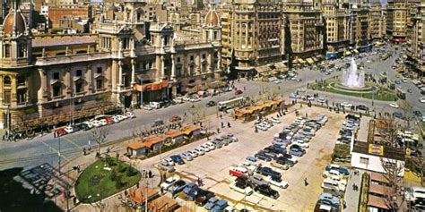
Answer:
[[(359, 207), (361, 175), (363, 174), (363, 171), (358, 170), (359, 174), (354, 174), (354, 171), (355, 170), (351, 170), (350, 178), (345, 190), (344, 200), (347, 207), (343, 209), (343, 212), (357, 212), (357, 208)], [(359, 187), (358, 191), (354, 191), (352, 189), (353, 184)]]

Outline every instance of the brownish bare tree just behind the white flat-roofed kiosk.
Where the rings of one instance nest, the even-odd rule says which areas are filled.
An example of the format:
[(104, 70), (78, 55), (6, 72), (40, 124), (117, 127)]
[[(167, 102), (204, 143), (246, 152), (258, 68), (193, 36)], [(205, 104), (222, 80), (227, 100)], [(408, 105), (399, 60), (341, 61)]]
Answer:
[(381, 144), (386, 146), (395, 147), (398, 132), (400, 128), (397, 121), (392, 117), (382, 117), (377, 119), (377, 132), (381, 137)]

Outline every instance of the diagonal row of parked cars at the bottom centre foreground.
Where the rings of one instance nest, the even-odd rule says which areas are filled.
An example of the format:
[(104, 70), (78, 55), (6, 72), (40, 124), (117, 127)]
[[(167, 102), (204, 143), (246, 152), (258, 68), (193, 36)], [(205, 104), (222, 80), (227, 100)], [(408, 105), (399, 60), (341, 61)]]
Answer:
[(195, 204), (213, 212), (233, 212), (235, 209), (229, 205), (228, 201), (218, 199), (212, 191), (199, 188), (194, 182), (186, 182), (178, 175), (167, 178), (160, 183), (163, 191), (169, 191), (173, 196), (178, 195), (183, 199), (195, 201)]

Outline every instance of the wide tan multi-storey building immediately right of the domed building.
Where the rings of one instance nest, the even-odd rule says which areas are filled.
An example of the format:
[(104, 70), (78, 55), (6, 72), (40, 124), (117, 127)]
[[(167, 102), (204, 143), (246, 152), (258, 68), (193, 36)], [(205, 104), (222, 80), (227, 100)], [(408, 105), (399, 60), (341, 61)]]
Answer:
[(284, 31), (279, 1), (235, 0), (228, 9), (223, 16), (225, 70), (233, 76), (253, 75), (258, 65), (282, 62)]

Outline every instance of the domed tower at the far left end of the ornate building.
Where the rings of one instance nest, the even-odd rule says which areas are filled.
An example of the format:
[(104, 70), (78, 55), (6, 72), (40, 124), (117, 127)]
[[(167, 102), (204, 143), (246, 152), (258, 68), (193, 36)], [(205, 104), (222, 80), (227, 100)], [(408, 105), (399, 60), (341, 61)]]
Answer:
[(3, 28), (0, 27), (0, 62), (3, 67), (26, 66), (30, 64), (31, 39), (28, 22), (18, 8), (18, 0), (6, 15)]

